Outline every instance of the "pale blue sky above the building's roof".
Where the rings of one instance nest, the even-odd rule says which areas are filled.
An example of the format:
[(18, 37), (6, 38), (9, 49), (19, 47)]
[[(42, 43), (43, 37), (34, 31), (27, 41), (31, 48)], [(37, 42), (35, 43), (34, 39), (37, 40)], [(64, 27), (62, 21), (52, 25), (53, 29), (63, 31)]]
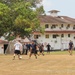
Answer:
[(75, 18), (75, 0), (43, 0), (42, 4), (47, 15), (50, 10), (58, 10), (59, 16)]

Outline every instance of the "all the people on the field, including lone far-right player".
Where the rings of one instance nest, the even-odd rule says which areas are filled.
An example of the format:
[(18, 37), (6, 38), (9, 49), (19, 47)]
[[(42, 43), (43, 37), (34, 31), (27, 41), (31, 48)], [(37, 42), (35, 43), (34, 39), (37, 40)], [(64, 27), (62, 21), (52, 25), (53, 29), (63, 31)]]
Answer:
[[(46, 47), (47, 47), (47, 53), (50, 53), (51, 45), (48, 43), (46, 45)], [(70, 53), (70, 55), (72, 55), (73, 48), (74, 48), (74, 44), (70, 40), (70, 42), (69, 42), (69, 49), (68, 49), (68, 52)], [(30, 52), (29, 58), (31, 58), (32, 54), (34, 54), (34, 56), (35, 56), (36, 59), (37, 59), (37, 55), (42, 54), (44, 56), (44, 45), (43, 44), (36, 44), (35, 42), (32, 42), (31, 44), (24, 43), (22, 45), (20, 43), (20, 40), (18, 40), (14, 44), (14, 56), (13, 56), (13, 60), (15, 59), (16, 55), (18, 55), (18, 58), (21, 59), (20, 55), (21, 54), (27, 55), (28, 52)], [(39, 54), (38, 54), (38, 52), (39, 52)]]

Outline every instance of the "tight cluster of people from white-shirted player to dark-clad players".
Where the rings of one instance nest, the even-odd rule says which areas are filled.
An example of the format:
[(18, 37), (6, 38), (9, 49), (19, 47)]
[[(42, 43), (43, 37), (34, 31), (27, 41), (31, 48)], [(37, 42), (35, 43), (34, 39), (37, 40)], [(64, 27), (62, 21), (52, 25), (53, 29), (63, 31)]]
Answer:
[[(29, 58), (31, 58), (32, 54), (34, 54), (35, 58), (37, 59), (37, 55), (42, 54), (44, 56), (44, 45), (43, 44), (36, 44), (35, 42), (31, 43), (24, 43), (21, 44), (20, 40), (18, 40), (14, 44), (14, 56), (13, 60), (15, 59), (15, 56), (18, 55), (18, 58), (20, 58), (21, 54), (27, 55), (29, 52)], [(39, 52), (39, 53), (38, 53)]]

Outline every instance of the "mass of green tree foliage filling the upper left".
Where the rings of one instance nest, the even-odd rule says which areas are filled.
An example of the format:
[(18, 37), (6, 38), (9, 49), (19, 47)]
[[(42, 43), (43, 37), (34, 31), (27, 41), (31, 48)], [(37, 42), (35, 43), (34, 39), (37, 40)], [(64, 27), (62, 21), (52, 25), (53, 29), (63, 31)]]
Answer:
[[(0, 0), (0, 36), (13, 32), (14, 35), (29, 35), (39, 29), (38, 15), (44, 13), (41, 0)], [(33, 10), (34, 8), (34, 10)]]

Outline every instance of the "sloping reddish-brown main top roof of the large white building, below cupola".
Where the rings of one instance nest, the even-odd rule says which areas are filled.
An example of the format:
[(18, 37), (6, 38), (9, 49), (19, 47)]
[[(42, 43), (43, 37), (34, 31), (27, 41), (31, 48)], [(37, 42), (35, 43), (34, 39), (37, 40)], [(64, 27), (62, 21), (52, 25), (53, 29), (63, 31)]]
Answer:
[(39, 20), (41, 23), (67, 23), (67, 24), (75, 24), (75, 19), (67, 16), (57, 16), (52, 17), (50, 15), (41, 15), (39, 16)]

